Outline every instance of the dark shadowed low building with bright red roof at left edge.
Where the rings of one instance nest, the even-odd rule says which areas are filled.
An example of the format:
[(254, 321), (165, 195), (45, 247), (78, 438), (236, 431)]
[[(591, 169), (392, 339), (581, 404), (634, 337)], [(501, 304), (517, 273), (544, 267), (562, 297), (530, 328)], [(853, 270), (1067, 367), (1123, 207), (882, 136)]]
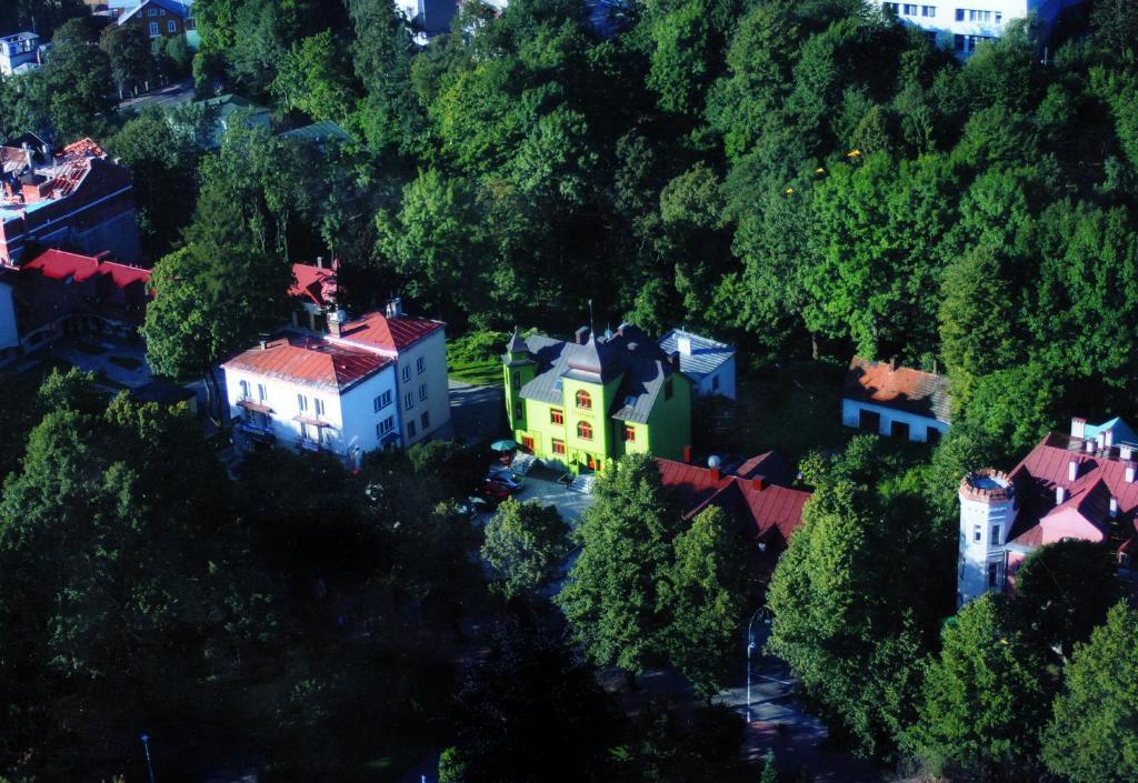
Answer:
[(132, 341), (150, 300), (150, 271), (44, 250), (0, 274), (0, 363), (68, 333)]

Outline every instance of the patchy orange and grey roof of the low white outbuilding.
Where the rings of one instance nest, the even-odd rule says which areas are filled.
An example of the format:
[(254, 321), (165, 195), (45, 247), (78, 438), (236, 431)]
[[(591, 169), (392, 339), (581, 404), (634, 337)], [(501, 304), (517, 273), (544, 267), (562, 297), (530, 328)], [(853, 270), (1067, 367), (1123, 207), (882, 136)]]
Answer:
[(850, 362), (842, 396), (945, 422), (951, 411), (948, 379), (943, 376), (860, 356)]

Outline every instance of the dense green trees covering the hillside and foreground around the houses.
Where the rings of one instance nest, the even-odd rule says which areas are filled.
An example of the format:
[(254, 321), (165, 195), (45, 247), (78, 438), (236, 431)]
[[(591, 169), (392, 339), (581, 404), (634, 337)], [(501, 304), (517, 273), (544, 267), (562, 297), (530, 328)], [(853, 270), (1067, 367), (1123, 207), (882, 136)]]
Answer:
[[(134, 173), (162, 374), (279, 325), (289, 264), (318, 255), (340, 259), (353, 308), (401, 292), (455, 335), (568, 333), (592, 305), (602, 323), (704, 330), (754, 364), (858, 353), (946, 372), (954, 427), (930, 459), (858, 438), (801, 465), (815, 500), (769, 588), (772, 650), (835, 743), (879, 763), (1133, 780), (1138, 617), (1110, 608), (1108, 563), (1041, 550), (1019, 611), (988, 597), (946, 618), (960, 475), (1071, 414), (1138, 412), (1138, 6), (1097, 0), (1047, 41), (1014, 23), (960, 64), (860, 0), (650, 0), (618, 7), (611, 35), (582, 0), (468, 0), (426, 47), (389, 0), (197, 0), (192, 60), (140, 53), (79, 3), (2, 5), (0, 27), (34, 18), (55, 46), (0, 81), (0, 133), (91, 134)], [(278, 129), (335, 121), (355, 141), (234, 127), (205, 150), (192, 110), (116, 110), (184, 74), (270, 106)], [(451, 503), (463, 458), (351, 476), (277, 454), (232, 481), (179, 414), (108, 407), (85, 385), (52, 376), (3, 412), (13, 780), (117, 774), (156, 726), (185, 756), (216, 748), (204, 766), (272, 759), (273, 780), (353, 780), (424, 735), (453, 741), (452, 783), (739, 772), (729, 716), (658, 703), (626, 722), (592, 676), (662, 660), (715, 692), (717, 650), (751, 609), (734, 572), (700, 570), (729, 549), (714, 520), (681, 530), (643, 465), (602, 486), (578, 531), (562, 638), (526, 594), (564, 531), (496, 518), (487, 590)], [(510, 570), (526, 526), (543, 559)], [(651, 557), (615, 560), (612, 541)], [(597, 587), (612, 580), (640, 602)], [(438, 646), (487, 607), (493, 651), (456, 682)], [(575, 760), (563, 777), (551, 750)]]

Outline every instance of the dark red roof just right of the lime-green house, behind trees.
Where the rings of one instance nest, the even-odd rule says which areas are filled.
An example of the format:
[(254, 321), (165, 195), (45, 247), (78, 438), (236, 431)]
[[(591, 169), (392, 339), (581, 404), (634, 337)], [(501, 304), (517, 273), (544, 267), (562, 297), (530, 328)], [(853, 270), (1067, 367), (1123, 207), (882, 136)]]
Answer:
[[(773, 452), (748, 460), (745, 465), (764, 462), (774, 456)], [(753, 465), (749, 477), (739, 475), (716, 475), (708, 468), (684, 462), (658, 459), (660, 479), (665, 487), (675, 493), (690, 519), (709, 505), (717, 505), (748, 525), (752, 538), (767, 538), (777, 530), (783, 542), (802, 524), (802, 506), (810, 493), (791, 489), (759, 478)], [(740, 471), (742, 472), (742, 470)]]

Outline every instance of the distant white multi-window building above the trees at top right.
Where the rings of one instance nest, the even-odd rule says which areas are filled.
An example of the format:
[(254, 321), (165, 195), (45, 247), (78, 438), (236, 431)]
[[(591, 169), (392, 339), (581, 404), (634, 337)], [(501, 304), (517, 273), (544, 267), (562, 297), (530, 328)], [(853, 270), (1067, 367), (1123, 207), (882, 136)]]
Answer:
[(881, 8), (905, 24), (920, 27), (931, 41), (966, 58), (984, 40), (1004, 35), (1014, 19), (1034, 16), (1046, 35), (1059, 11), (1081, 0), (922, 0), (882, 2)]

